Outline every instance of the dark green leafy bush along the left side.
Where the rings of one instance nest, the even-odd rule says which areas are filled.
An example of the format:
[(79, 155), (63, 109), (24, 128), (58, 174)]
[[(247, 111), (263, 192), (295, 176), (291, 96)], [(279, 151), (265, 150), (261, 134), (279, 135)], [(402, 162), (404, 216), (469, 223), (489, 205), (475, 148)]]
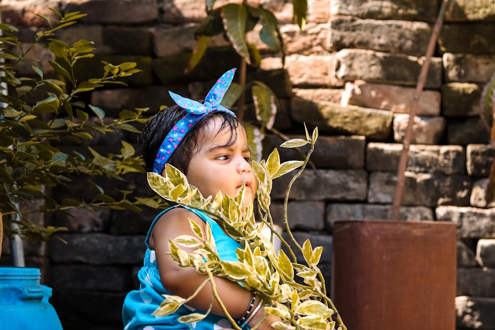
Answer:
[[(108, 84), (125, 85), (117, 79), (141, 70), (132, 62), (119, 65), (102, 62), (102, 77), (79, 81), (74, 76), (74, 68), (80, 59), (94, 56), (93, 42), (80, 40), (69, 46), (53, 35), (85, 14), (61, 15), (52, 11), (60, 19), (52, 23), (43, 17), (49, 27), (37, 32), (35, 42), (27, 48), (16, 37), (15, 26), (0, 24), (3, 32), (0, 36), (0, 214), (3, 218), (0, 240), (1, 227), (10, 238), (20, 235), (34, 241), (46, 240), (63, 230), (33, 224), (30, 216), (34, 213), (71, 208), (140, 210), (138, 205), (163, 206), (158, 197), (131, 201), (130, 191), (120, 191), (120, 199), (115, 199), (96, 183), (93, 186), (98, 193), (88, 201), (70, 195), (57, 201), (45, 192), (45, 189), (70, 185), (70, 177), (75, 175), (122, 180), (126, 173), (146, 172), (133, 146), (126, 141), (122, 141), (121, 149), (115, 154), (101, 155), (91, 147), (87, 148), (89, 156), (63, 151), (64, 143), (82, 143), (99, 134), (118, 130), (139, 133), (133, 124), (147, 121), (144, 117), (147, 109), (123, 110), (119, 118), (107, 120), (102, 109), (83, 101), (83, 93)], [(32, 76), (18, 76), (16, 69), (29, 61), (28, 54), (36, 47), (48, 47), (56, 57), (55, 61), (48, 61), (54, 77), (47, 77), (37, 66), (32, 66)], [(39, 199), (44, 202), (33, 204)], [(25, 209), (23, 205), (31, 207), (20, 211)]]

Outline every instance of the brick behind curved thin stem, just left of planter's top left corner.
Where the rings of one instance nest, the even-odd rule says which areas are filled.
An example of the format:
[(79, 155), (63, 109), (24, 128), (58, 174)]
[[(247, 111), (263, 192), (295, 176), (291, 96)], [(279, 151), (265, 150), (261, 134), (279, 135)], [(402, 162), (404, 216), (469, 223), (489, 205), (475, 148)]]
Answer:
[[(272, 203), (273, 222), (285, 228), (284, 204)], [(287, 218), (291, 230), (323, 231), (325, 229), (325, 202), (291, 201), (287, 204)]]

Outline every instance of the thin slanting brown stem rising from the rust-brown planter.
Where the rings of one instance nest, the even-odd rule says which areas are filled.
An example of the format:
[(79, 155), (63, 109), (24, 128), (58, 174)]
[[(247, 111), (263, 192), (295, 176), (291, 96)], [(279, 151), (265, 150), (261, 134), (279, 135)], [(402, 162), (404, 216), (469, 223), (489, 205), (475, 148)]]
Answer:
[(447, 9), (447, 4), (449, 0), (444, 0), (442, 2), (442, 6), (440, 7), (440, 11), (437, 17), (437, 21), (435, 22), (435, 26), (433, 27), (433, 32), (430, 37), (430, 42), (428, 44), (428, 48), (426, 49), (425, 61), (421, 66), (421, 72), (419, 74), (418, 83), (416, 85), (416, 91), (414, 93), (413, 102), (411, 105), (411, 110), (409, 111), (409, 122), (407, 123), (407, 129), (404, 135), (404, 139), (402, 142), (402, 153), (400, 154), (399, 167), (397, 170), (397, 186), (396, 193), (394, 196), (394, 204), (392, 205), (392, 212), (390, 215), (390, 219), (398, 219), (399, 210), (400, 210), (400, 202), (402, 200), (402, 194), (404, 192), (405, 185), (405, 170), (407, 166), (407, 157), (409, 154), (409, 146), (411, 143), (411, 135), (412, 128), (414, 125), (414, 117), (416, 116), (416, 112), (419, 105), (419, 98), (421, 93), (423, 92), (423, 87), (426, 82), (426, 78), (428, 75), (428, 69), (430, 68), (431, 58), (433, 56), (433, 52), (435, 51), (435, 47), (437, 45), (438, 36), (440, 35), (440, 30), (442, 29), (442, 25), (444, 23), (444, 14)]

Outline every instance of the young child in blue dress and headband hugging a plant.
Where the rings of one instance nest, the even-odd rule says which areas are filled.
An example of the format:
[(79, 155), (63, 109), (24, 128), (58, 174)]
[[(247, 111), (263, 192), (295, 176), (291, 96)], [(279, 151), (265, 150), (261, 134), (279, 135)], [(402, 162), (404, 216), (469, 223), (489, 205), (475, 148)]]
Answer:
[[(256, 177), (250, 161), (246, 131), (235, 114), (220, 105), (225, 91), (230, 86), (235, 69), (227, 71), (207, 94), (203, 104), (177, 94), (170, 95), (177, 103), (157, 113), (141, 136), (141, 153), (149, 172), (163, 174), (165, 163), (183, 172), (188, 182), (207, 197), (215, 196), (218, 190), (235, 197), (245, 184), (245, 204), (254, 200)], [(180, 235), (195, 236), (188, 219), (195, 221), (205, 232), (206, 223), (211, 226), (220, 258), (237, 261), (236, 248), (241, 245), (205, 213), (185, 206), (173, 206), (158, 214), (146, 237), (148, 247), (144, 266), (139, 271), (139, 290), (128, 293), (123, 306), (123, 321), (126, 330), (219, 330), (233, 325), (215, 301), (210, 314), (193, 323), (180, 323), (177, 319), (192, 311), (206, 311), (213, 293), (208, 283), (199, 294), (181, 306), (175, 313), (165, 317), (151, 314), (163, 301), (162, 294), (190, 297), (206, 279), (194, 267), (180, 267), (170, 255), (169, 239)], [(186, 249), (192, 252), (194, 248)], [(248, 329), (264, 317), (259, 297), (240, 284), (217, 277), (217, 291), (229, 314), (238, 325)], [(268, 315), (258, 327), (273, 329), (278, 321)]]

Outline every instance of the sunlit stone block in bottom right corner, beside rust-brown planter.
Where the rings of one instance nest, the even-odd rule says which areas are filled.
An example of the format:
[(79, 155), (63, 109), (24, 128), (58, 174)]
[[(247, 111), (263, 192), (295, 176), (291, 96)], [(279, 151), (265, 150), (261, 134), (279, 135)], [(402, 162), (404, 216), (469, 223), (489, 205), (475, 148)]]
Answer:
[(495, 329), (495, 298), (455, 297), (456, 327), (459, 329)]

